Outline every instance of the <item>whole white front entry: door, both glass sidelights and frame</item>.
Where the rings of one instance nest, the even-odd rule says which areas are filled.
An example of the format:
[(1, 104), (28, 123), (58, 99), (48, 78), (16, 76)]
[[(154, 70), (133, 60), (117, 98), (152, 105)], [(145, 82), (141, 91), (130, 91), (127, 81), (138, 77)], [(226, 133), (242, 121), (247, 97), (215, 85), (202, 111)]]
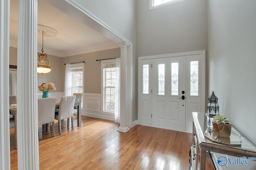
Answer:
[(192, 133), (193, 111), (205, 111), (205, 51), (138, 58), (139, 124)]

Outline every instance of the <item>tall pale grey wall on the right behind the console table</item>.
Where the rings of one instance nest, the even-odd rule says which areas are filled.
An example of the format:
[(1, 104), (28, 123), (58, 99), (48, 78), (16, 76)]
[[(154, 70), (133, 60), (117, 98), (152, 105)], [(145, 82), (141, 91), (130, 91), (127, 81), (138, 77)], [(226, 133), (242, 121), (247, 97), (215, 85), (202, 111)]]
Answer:
[(220, 114), (254, 145), (255, 17), (254, 0), (208, 0), (208, 90), (218, 97)]

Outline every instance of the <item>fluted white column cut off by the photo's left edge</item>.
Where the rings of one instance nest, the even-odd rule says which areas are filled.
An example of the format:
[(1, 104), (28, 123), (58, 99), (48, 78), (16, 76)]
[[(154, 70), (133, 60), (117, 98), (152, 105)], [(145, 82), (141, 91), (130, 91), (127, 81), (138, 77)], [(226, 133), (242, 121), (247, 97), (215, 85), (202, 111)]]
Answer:
[(9, 11), (10, 0), (0, 0), (0, 169), (10, 170), (9, 117)]

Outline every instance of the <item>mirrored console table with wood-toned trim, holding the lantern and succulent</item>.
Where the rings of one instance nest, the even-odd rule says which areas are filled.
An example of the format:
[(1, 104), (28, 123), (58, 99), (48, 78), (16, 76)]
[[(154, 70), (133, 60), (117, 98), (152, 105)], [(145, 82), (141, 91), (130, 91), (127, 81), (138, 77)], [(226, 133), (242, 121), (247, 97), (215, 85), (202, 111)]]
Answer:
[[(205, 113), (192, 112), (193, 116), (193, 139), (190, 154), (190, 166), (193, 170), (204, 170), (206, 165), (206, 151), (217, 152), (237, 157), (256, 157), (256, 147), (233, 126), (232, 131), (241, 137), (241, 146), (230, 146), (209, 140), (204, 132), (209, 127)], [(255, 135), (255, 132), (252, 132)], [(252, 161), (252, 160), (250, 160)]]

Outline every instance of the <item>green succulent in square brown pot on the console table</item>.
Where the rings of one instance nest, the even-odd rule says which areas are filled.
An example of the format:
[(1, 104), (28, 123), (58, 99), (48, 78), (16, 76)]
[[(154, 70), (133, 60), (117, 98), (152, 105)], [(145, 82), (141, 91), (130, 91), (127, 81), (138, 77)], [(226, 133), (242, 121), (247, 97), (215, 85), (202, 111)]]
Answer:
[(212, 120), (212, 133), (218, 137), (230, 137), (232, 125), (228, 121), (225, 116), (214, 116)]

